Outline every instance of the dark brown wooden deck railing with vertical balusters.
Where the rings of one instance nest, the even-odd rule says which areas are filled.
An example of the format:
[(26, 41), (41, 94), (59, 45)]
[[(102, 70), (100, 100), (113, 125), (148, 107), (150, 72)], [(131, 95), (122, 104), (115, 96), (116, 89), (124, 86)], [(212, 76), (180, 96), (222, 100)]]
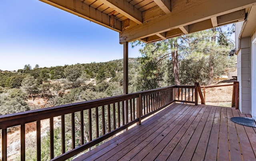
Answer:
[[(175, 96), (177, 89), (184, 91), (178, 98)], [(188, 100), (183, 100), (183, 97), (187, 95), (189, 96)], [(197, 105), (197, 95), (197, 86), (173, 85), (121, 96), (0, 116), (2, 161), (7, 160), (7, 128), (20, 126), (20, 157), (24, 161), (26, 159), (25, 127), (28, 123), (36, 122), (36, 155), (37, 161), (40, 161), (42, 148), (41, 124), (42, 120), (49, 119), (50, 159), (63, 161), (97, 145), (133, 124), (140, 124), (142, 119), (173, 102), (194, 103)], [(56, 117), (61, 120), (62, 154), (59, 156), (54, 155), (54, 118)], [(69, 127), (71, 130), (67, 131), (65, 122), (68, 120), (71, 122), (71, 127)], [(67, 138), (65, 133), (70, 131), (72, 149), (66, 151)], [(79, 136), (79, 139), (77, 136)]]

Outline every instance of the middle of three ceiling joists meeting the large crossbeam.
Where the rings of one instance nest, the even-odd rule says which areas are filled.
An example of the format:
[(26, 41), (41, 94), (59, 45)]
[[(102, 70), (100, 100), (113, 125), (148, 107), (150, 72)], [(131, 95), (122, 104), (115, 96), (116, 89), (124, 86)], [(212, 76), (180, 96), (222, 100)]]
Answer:
[(110, 8), (126, 16), (137, 24), (142, 24), (142, 12), (134, 7), (127, 0), (100, 0)]

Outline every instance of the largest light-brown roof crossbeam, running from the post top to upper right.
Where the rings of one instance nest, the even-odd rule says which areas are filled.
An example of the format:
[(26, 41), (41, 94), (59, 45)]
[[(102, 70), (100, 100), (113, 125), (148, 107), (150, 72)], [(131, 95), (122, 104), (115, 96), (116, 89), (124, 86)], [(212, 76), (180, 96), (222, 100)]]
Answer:
[[(222, 5), (220, 5), (222, 4)], [(134, 41), (256, 5), (256, 0), (201, 0), (148, 23), (130, 27), (119, 35), (120, 43)], [(161, 24), (161, 25), (159, 25)]]

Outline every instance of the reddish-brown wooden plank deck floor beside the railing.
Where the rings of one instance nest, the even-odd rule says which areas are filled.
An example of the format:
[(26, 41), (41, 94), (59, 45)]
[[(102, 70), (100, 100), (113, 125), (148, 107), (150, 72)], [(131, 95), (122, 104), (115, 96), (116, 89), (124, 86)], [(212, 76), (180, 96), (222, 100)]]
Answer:
[(74, 160), (255, 161), (256, 128), (233, 123), (235, 116), (246, 117), (234, 108), (174, 103)]

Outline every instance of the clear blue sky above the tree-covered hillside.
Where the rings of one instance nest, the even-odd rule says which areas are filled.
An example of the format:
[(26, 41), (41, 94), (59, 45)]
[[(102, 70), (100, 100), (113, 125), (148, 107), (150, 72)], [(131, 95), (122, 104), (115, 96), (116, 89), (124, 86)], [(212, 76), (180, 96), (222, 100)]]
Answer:
[[(129, 47), (129, 57), (139, 57)], [(123, 58), (119, 33), (39, 0), (0, 1), (0, 69), (18, 70)]]

